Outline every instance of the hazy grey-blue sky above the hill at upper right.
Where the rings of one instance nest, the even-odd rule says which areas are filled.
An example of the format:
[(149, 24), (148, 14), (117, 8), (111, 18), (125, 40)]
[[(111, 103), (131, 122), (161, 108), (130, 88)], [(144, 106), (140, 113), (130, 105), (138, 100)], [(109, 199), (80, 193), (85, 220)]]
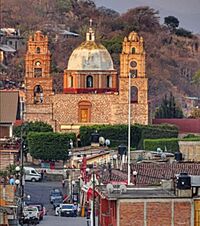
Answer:
[(130, 8), (150, 6), (159, 11), (160, 23), (164, 17), (175, 16), (179, 27), (200, 33), (200, 0), (93, 0), (95, 4), (125, 13)]

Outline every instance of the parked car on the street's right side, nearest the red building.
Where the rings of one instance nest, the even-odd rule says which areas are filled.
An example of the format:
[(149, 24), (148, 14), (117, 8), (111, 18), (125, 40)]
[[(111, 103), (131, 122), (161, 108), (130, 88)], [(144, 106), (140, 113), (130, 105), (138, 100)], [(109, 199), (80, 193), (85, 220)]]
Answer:
[(74, 204), (60, 204), (60, 206), (56, 208), (55, 215), (77, 217), (77, 209)]

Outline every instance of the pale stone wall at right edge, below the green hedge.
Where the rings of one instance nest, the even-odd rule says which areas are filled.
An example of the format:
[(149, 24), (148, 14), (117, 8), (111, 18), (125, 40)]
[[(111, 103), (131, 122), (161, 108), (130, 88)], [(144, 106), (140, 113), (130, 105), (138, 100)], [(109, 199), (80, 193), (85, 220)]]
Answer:
[(180, 152), (186, 161), (200, 161), (200, 141), (179, 141)]

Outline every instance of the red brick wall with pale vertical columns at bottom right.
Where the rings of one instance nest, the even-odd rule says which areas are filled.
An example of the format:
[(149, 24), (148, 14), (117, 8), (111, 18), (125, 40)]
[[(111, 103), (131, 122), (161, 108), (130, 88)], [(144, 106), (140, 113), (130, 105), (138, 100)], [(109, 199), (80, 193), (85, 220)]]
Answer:
[(194, 225), (190, 199), (131, 199), (119, 203), (120, 226)]

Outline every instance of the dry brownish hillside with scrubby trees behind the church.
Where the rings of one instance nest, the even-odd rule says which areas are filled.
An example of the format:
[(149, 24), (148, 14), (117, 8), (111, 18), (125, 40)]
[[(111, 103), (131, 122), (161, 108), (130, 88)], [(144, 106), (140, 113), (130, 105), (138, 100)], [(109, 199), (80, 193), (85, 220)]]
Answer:
[[(1, 27), (20, 29), (25, 40), (36, 30), (48, 34), (56, 92), (62, 91), (63, 70), (73, 49), (85, 39), (92, 18), (97, 39), (108, 48), (118, 71), (123, 37), (133, 30), (144, 37), (152, 108), (170, 91), (178, 99), (198, 94), (197, 85), (191, 81), (200, 68), (199, 37), (175, 35), (160, 24), (155, 9), (139, 7), (120, 15), (104, 7), (97, 8), (91, 0), (18, 0), (18, 4), (15, 0), (2, 0), (2, 9)], [(59, 29), (68, 28), (80, 36), (57, 36)], [(25, 51), (26, 46), (9, 61), (2, 78), (4, 75), (13, 80), (23, 80)]]

